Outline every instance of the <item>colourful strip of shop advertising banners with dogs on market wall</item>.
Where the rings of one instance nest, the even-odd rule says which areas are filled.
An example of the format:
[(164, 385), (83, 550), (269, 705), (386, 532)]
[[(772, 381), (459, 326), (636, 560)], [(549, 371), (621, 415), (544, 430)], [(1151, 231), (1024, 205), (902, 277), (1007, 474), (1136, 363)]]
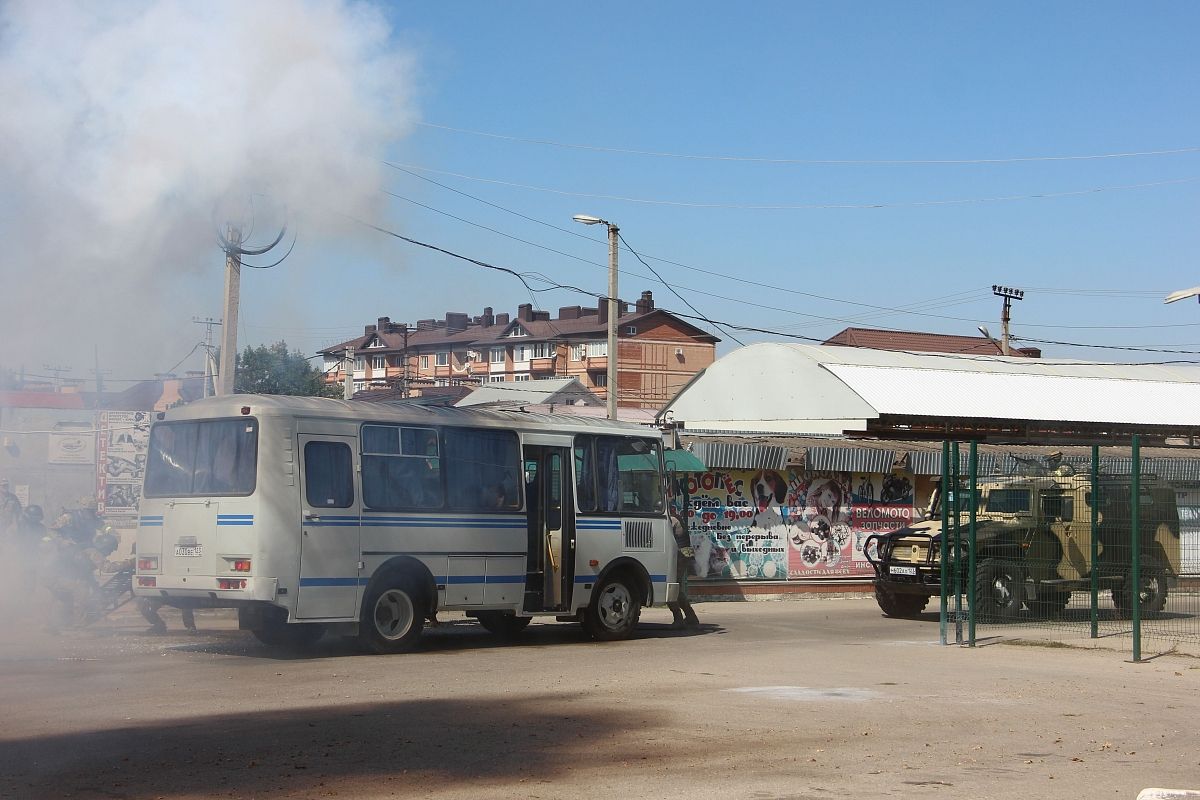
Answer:
[(912, 521), (912, 482), (902, 475), (710, 471), (689, 476), (688, 493), (701, 579), (871, 576), (865, 539)]

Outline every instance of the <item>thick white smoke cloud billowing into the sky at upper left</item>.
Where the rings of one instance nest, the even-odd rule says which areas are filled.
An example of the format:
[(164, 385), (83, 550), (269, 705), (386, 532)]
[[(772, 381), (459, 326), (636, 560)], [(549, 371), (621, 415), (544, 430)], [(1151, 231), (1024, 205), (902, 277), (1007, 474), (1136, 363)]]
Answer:
[(410, 59), (366, 4), (10, 0), (0, 25), (8, 368), (84, 377), (92, 342), (107, 368), (169, 368), (220, 308), (214, 222), (253, 204), (269, 241), (280, 216), (257, 215), (286, 207), (311, 263), (376, 216), (413, 119)]

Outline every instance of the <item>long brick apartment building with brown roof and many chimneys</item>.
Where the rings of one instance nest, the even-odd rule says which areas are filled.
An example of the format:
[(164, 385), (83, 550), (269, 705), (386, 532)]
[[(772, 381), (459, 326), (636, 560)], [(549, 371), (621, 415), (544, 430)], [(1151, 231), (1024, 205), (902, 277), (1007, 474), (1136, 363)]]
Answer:
[[(661, 408), (716, 356), (715, 336), (654, 307), (643, 291), (629, 308), (618, 305), (617, 402), (623, 408)], [(380, 317), (362, 336), (320, 350), (330, 383), (344, 379), (344, 354), (354, 354), (356, 391), (400, 389), (420, 396), (444, 386), (479, 386), (540, 378), (578, 378), (601, 397), (608, 369), (608, 303), (564, 306), (558, 317), (529, 303), (516, 317), (484, 308), (478, 317), (450, 312), (415, 326)]]

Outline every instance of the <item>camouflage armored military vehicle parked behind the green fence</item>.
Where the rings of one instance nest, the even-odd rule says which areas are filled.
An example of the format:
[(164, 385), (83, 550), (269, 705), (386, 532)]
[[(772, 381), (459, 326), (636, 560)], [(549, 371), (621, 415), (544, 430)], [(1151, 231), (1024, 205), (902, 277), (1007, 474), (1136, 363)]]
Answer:
[[(1144, 477), (1139, 499), (1140, 587), (1133, 591), (1132, 492), (1128, 476), (1091, 480), (1060, 468), (1052, 475), (983, 481), (976, 494), (976, 585), (967, 585), (966, 493), (961, 498), (958, 563), (960, 585), (984, 619), (1012, 619), (1022, 604), (1051, 615), (1066, 608), (1073, 591), (1098, 585), (1111, 593), (1121, 614), (1163, 610), (1168, 578), (1180, 570), (1180, 522), (1175, 491)], [(888, 616), (916, 616), (941, 594), (942, 521), (937, 494), (924, 522), (868, 537), (866, 558), (875, 570), (875, 599)], [(1092, 560), (1092, 506), (1099, 512), (1097, 558)], [(953, 522), (953, 521), (952, 521)], [(953, 559), (954, 541), (948, 542)], [(953, 572), (948, 579), (953, 579)], [(953, 584), (952, 584), (953, 585)]]

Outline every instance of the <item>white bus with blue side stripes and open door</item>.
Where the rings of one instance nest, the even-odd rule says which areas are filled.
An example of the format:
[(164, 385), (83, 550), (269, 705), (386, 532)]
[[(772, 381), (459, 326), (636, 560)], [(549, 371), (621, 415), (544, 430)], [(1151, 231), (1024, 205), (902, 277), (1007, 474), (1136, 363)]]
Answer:
[(661, 435), (630, 423), (209, 398), (151, 427), (134, 593), (277, 645), (401, 652), (438, 609), (619, 639), (678, 593), (664, 488)]

